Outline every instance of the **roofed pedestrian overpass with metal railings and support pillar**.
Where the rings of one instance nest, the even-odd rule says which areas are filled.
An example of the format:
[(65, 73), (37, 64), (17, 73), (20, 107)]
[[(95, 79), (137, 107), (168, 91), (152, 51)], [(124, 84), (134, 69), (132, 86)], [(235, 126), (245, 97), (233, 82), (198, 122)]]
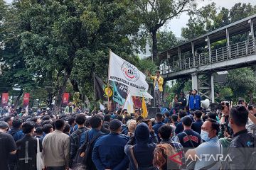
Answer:
[(192, 89), (214, 102), (213, 73), (256, 64), (255, 27), (253, 15), (161, 52), (161, 77), (192, 77)]

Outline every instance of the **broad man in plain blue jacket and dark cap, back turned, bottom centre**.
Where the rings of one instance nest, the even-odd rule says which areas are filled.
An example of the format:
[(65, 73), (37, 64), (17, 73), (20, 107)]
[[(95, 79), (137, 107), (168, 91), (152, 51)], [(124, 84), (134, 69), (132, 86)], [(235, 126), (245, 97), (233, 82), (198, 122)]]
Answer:
[(92, 150), (92, 161), (98, 170), (127, 169), (129, 159), (124, 153), (128, 138), (120, 135), (122, 123), (114, 119), (110, 122), (110, 134), (101, 137)]

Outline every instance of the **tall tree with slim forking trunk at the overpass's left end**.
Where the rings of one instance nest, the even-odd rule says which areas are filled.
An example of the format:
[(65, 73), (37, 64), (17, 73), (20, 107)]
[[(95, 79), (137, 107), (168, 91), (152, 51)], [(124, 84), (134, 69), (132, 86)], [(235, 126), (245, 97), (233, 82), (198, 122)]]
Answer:
[(181, 13), (196, 8), (196, 2), (192, 0), (138, 0), (134, 1), (134, 4), (134, 13), (142, 23), (142, 30), (146, 30), (151, 35), (154, 60), (158, 53), (156, 33), (159, 28)]

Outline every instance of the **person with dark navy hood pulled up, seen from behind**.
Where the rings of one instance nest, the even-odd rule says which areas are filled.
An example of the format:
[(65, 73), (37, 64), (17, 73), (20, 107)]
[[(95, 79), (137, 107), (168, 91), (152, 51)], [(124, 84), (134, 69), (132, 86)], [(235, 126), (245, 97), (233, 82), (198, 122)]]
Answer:
[(156, 138), (151, 124), (139, 123), (135, 129), (134, 135), (129, 139), (127, 145), (125, 145), (124, 152), (129, 157), (130, 170), (156, 170), (153, 166), (153, 153), (156, 148), (156, 143), (149, 143), (149, 135)]

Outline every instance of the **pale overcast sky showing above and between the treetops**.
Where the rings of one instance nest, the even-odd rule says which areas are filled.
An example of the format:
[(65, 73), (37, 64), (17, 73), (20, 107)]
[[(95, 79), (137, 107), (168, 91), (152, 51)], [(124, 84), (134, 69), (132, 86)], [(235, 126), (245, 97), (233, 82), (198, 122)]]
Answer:
[[(5, 0), (8, 3), (11, 3), (12, 0)], [(199, 3), (198, 7), (206, 6), (207, 4), (210, 4), (212, 2), (215, 2), (217, 7), (225, 7), (225, 8), (231, 8), (236, 3), (251, 3), (253, 6), (256, 5), (256, 0), (196, 0)], [(183, 13), (179, 18), (175, 18), (171, 21), (169, 21), (166, 26), (161, 28), (161, 30), (172, 30), (176, 37), (181, 37), (181, 28), (186, 26), (186, 23), (188, 23), (189, 16), (186, 13)]]

